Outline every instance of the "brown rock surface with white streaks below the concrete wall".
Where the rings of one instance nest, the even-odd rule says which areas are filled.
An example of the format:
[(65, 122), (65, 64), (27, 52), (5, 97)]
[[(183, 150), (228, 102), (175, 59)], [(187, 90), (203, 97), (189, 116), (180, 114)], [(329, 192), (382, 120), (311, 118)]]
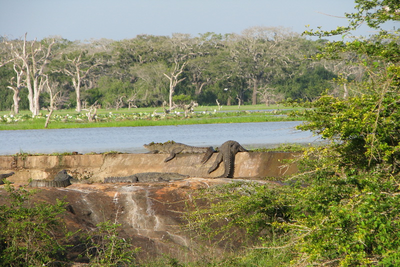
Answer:
[[(181, 215), (186, 211), (185, 201), (199, 189), (232, 181), (239, 179), (188, 178), (134, 184), (72, 184), (66, 188), (40, 188), (34, 200), (55, 203), (55, 199), (65, 197), (64, 201), (68, 204), (63, 218), (70, 231), (90, 230), (99, 222), (116, 221), (121, 224), (121, 236), (131, 238), (134, 246), (141, 248), (140, 257), (153, 257), (162, 253), (180, 257), (182, 251), (191, 253), (207, 245), (193, 238), (193, 232), (182, 230), (185, 221)], [(279, 185), (277, 182), (261, 180), (246, 182)], [(0, 186), (0, 204), (5, 194)], [(238, 236), (235, 245), (240, 245), (240, 240)], [(221, 243), (214, 253), (225, 250), (226, 245)], [(70, 257), (73, 258), (72, 255)]]

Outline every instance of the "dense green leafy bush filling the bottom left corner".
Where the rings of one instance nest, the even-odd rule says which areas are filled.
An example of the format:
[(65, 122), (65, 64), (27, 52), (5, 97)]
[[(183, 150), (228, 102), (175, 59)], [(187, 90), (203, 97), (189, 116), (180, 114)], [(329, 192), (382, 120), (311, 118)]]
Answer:
[(15, 189), (7, 181), (4, 188), (9, 203), (0, 206), (0, 266), (51, 265), (65, 250), (63, 237), (55, 234), (66, 203), (32, 203), (35, 190)]

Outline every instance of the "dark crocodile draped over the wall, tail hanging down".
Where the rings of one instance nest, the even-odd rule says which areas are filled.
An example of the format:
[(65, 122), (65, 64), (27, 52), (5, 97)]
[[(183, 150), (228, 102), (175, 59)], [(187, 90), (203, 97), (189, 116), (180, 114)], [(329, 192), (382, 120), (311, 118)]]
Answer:
[(234, 168), (234, 157), (237, 152), (247, 152), (248, 150), (244, 149), (239, 143), (236, 141), (226, 141), (219, 147), (218, 155), (216, 156), (215, 162), (208, 169), (207, 173), (210, 174), (216, 168), (218, 168), (219, 163), (223, 161), (223, 165), (225, 170), (222, 175), (215, 178), (232, 178), (233, 176), (233, 168)]

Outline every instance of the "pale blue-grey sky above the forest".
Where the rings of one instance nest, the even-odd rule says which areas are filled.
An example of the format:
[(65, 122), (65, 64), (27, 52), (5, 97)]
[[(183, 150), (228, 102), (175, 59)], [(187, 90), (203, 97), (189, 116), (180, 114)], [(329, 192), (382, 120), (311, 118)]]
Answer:
[[(302, 33), (346, 26), (351, 0), (0, 0), (0, 34), (8, 39), (132, 39), (140, 34), (240, 34), (254, 26)], [(371, 34), (368, 30), (357, 36)], [(341, 37), (338, 37), (341, 38)]]

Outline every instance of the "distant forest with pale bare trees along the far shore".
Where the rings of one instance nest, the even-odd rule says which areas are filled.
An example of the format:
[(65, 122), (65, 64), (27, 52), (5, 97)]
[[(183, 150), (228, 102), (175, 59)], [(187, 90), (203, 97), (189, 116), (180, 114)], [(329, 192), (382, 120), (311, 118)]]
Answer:
[[(1, 39), (0, 110), (199, 105), (266, 105), (345, 95), (363, 72), (337, 60), (313, 60), (326, 40), (285, 28), (252, 27), (241, 34), (139, 35), (71, 42), (62, 38)], [(340, 86), (331, 83), (340, 79)]]

